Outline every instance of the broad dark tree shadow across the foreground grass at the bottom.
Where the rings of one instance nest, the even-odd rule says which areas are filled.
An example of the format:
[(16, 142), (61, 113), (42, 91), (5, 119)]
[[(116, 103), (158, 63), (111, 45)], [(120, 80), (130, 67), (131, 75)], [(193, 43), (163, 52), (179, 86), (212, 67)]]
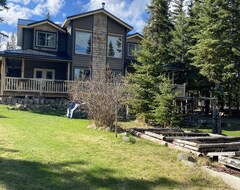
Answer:
[(6, 189), (144, 189), (155, 186), (171, 188), (180, 185), (168, 178), (154, 181), (119, 178), (109, 168), (94, 167), (84, 161), (38, 163), (23, 160), (0, 159), (0, 186)]

